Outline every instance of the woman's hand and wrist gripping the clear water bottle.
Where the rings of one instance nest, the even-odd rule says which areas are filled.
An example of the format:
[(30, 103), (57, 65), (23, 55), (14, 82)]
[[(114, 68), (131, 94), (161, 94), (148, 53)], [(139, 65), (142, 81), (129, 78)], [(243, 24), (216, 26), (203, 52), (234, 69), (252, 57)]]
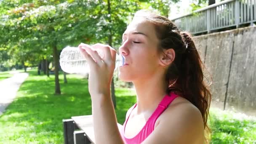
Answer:
[[(92, 46), (81, 43), (78, 47), (90, 67), (88, 88), (91, 98), (108, 95), (115, 69), (115, 49), (101, 43)], [(101, 58), (96, 50), (101, 51), (104, 56)]]

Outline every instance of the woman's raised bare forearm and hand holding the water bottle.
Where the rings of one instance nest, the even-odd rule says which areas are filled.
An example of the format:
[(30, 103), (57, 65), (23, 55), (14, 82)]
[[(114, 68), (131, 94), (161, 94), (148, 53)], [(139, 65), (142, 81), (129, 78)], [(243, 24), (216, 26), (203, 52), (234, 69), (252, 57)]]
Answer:
[[(90, 67), (88, 89), (92, 100), (95, 142), (96, 144), (123, 144), (110, 94), (116, 51), (103, 44), (90, 46), (81, 43), (79, 48)], [(99, 56), (96, 49), (104, 52), (103, 58)]]

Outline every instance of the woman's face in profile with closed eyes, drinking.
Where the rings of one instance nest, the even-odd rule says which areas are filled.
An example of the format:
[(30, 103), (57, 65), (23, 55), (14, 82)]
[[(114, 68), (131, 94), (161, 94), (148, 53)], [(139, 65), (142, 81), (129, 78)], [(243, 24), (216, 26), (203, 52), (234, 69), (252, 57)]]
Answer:
[(123, 44), (119, 53), (126, 59), (119, 67), (119, 78), (123, 81), (146, 80), (159, 70), (158, 39), (153, 24), (144, 18), (134, 17), (123, 33)]

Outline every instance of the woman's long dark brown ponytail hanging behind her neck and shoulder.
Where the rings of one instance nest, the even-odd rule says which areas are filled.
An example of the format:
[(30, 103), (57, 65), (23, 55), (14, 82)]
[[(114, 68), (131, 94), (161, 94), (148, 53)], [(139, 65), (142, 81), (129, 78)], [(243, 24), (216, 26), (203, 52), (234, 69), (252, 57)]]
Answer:
[[(197, 107), (203, 117), (204, 128), (207, 133), (211, 132), (207, 125), (209, 107), (211, 104), (211, 93), (208, 89), (208, 85), (204, 82), (203, 67), (204, 64), (200, 59), (200, 55), (196, 49), (195, 43), (192, 40), (188, 32), (180, 32), (182, 38), (182, 53), (178, 53), (177, 59), (173, 61), (173, 66), (168, 69), (169, 84), (168, 93), (174, 91), (177, 94), (183, 96)], [(177, 77), (174, 78), (173, 74), (177, 73)], [(168, 76), (167, 76), (168, 77)], [(172, 85), (175, 79), (175, 87)], [(205, 138), (207, 142), (207, 139)]]

